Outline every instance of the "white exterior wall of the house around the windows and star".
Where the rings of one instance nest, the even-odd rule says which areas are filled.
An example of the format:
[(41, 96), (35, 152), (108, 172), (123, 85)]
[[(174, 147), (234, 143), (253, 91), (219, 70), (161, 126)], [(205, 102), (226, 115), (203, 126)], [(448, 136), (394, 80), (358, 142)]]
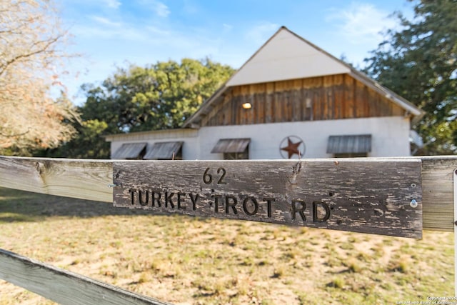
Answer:
[[(111, 136), (111, 154), (123, 143), (184, 141), (184, 160), (218, 160), (223, 154), (211, 154), (219, 139), (251, 138), (249, 159), (282, 159), (281, 141), (287, 136), (300, 137), (306, 151), (303, 158), (327, 158), (328, 136), (371, 134), (368, 156), (409, 156), (409, 119), (391, 116), (365, 119), (301, 121), (275, 124), (206, 126), (201, 129), (151, 131), (149, 133)], [(294, 157), (297, 157), (296, 155)]]

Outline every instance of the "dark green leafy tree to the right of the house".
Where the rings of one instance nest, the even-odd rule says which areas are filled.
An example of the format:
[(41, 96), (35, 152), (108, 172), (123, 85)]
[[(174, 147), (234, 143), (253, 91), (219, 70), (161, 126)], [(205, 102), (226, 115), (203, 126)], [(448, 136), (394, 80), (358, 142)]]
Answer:
[[(409, 0), (412, 1), (412, 0)], [(415, 1), (413, 20), (366, 59), (365, 72), (426, 111), (416, 126), (418, 154), (457, 154), (457, 1)]]

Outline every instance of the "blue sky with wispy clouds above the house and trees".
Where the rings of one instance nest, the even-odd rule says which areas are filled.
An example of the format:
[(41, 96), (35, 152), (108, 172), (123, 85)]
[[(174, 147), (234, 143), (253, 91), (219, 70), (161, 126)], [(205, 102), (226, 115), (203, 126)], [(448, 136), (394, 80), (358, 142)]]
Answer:
[(76, 104), (79, 86), (100, 84), (116, 66), (184, 57), (239, 68), (280, 26), (333, 56), (363, 66), (381, 31), (398, 26), (393, 11), (412, 16), (406, 0), (60, 0), (70, 52), (82, 54), (64, 79)]

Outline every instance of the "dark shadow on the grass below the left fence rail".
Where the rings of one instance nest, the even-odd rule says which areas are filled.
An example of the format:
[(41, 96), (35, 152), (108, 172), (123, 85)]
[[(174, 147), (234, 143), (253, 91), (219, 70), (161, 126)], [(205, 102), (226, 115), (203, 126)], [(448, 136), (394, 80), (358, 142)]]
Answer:
[(151, 215), (151, 212), (114, 208), (107, 202), (0, 188), (0, 223), (44, 221), (52, 216), (87, 218), (109, 215)]

